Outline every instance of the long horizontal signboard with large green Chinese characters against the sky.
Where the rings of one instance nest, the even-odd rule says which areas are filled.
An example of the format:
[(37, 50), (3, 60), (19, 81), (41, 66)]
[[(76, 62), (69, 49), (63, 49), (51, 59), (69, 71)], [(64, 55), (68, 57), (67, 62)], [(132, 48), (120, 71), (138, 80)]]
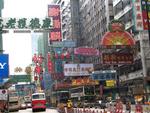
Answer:
[(13, 29), (14, 32), (44, 32), (53, 28), (52, 17), (47, 18), (0, 18), (0, 31)]

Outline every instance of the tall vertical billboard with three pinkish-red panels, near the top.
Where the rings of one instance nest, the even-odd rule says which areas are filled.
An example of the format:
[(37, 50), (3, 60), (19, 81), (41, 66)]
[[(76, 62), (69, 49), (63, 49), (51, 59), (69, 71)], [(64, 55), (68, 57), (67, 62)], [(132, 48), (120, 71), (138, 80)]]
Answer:
[(61, 41), (60, 5), (48, 5), (48, 16), (53, 18), (53, 29), (49, 33), (49, 41)]

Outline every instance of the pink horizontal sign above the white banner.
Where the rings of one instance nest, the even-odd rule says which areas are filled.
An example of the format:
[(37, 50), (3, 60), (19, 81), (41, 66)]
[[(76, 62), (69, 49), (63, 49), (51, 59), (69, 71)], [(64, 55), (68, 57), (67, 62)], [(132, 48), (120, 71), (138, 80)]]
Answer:
[(85, 55), (85, 56), (99, 56), (99, 50), (89, 47), (79, 47), (74, 49), (74, 54)]

